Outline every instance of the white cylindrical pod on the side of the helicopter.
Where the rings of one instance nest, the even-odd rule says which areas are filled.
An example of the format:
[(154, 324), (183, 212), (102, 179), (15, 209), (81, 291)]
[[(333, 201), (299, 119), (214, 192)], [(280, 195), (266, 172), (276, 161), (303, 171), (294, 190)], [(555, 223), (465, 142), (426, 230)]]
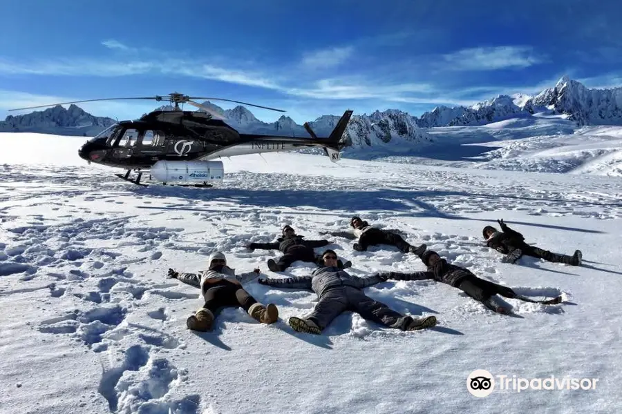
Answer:
[(222, 181), (223, 161), (167, 161), (161, 159), (151, 167), (151, 177), (167, 182)]

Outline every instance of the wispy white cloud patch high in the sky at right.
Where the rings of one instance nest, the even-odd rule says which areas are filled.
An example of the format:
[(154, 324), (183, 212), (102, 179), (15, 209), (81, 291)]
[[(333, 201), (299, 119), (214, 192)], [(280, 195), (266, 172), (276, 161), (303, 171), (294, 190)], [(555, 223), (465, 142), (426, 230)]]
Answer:
[(442, 55), (442, 59), (444, 68), (449, 70), (527, 68), (543, 61), (529, 46), (468, 48)]

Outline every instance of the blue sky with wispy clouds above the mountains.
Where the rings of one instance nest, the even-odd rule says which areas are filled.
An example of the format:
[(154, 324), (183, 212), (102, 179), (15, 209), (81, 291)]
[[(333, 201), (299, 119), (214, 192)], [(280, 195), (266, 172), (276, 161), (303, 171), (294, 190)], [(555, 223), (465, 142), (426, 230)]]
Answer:
[[(620, 16), (608, 0), (3, 1), (0, 119), (178, 91), (281, 108), (301, 124), (348, 108), (420, 115), (563, 75), (622, 86)], [(158, 103), (80, 106), (131, 119)]]

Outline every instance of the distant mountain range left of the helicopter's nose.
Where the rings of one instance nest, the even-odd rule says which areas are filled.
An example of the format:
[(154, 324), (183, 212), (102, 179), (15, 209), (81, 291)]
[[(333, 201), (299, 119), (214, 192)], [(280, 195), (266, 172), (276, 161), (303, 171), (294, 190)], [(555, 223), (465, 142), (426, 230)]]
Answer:
[(97, 135), (115, 123), (112, 118), (95, 117), (76, 105), (60, 105), (26, 115), (9, 115), (0, 121), (3, 132), (39, 132), (56, 135)]

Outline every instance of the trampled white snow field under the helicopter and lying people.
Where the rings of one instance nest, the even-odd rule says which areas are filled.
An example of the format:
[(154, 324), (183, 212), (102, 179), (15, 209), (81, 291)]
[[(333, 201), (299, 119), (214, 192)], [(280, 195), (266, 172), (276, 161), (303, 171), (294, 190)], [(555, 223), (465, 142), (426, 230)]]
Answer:
[[(449, 138), (482, 143), (482, 128), (458, 127)], [(589, 132), (583, 145), (622, 139), (620, 128)], [(82, 137), (0, 140), (1, 412), (622, 412), (620, 177), (269, 153), (223, 159), (225, 180), (209, 190), (143, 188), (87, 166), (77, 157)], [(198, 290), (167, 279), (168, 268), (200, 270), (218, 249), (238, 271), (308, 275), (313, 266), (303, 262), (272, 273), (265, 261), (280, 253), (244, 246), (272, 240), (284, 224), (321, 238), (346, 230), (355, 214), (480, 277), (565, 302), (506, 299), (517, 314), (509, 317), (444, 284), (385, 282), (366, 292), (402, 313), (435, 315), (439, 325), (404, 333), (344, 313), (314, 336), (286, 324), (312, 309), (314, 293), (253, 281), (247, 290), (279, 306), (281, 321), (258, 324), (229, 308), (213, 333), (185, 328), (201, 306)], [(584, 266), (529, 257), (502, 264), (481, 238), (501, 218), (541, 248), (581, 249)], [(355, 275), (424, 269), (395, 248), (357, 252), (347, 239), (330, 240)], [(496, 389), (478, 398), (466, 389), (475, 369), (599, 382), (590, 391)]]

